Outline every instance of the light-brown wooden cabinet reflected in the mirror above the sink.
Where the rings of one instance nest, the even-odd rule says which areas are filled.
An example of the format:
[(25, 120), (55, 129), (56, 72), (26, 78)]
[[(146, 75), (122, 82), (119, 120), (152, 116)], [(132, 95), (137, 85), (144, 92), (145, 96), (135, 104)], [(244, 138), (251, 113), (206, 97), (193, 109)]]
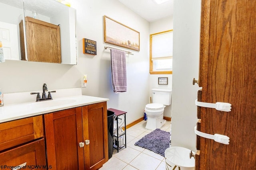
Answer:
[[(28, 61), (61, 63), (60, 27), (25, 17)], [(20, 22), (21, 59), (26, 60), (23, 22)]]

